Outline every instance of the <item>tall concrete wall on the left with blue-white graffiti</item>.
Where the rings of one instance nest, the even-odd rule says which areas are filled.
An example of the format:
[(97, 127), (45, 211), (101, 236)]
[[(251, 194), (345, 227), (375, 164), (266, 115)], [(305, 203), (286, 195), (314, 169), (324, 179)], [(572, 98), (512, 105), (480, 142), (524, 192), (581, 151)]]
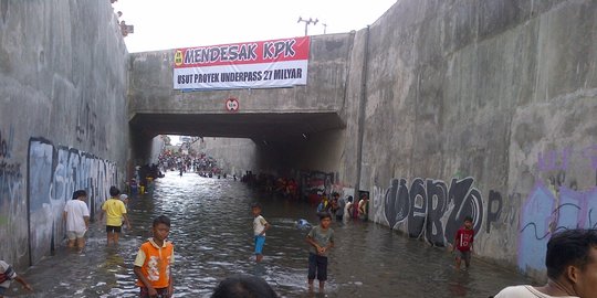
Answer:
[(128, 78), (116, 22), (109, 1), (0, 1), (0, 258), (18, 268), (62, 242), (74, 190), (87, 190), (93, 212), (122, 181)]

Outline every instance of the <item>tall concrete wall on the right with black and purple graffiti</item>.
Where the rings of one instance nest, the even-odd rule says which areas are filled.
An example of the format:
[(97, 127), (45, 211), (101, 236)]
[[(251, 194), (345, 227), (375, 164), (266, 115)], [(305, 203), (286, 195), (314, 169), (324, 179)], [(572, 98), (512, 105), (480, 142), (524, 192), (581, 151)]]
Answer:
[(446, 245), (473, 215), (479, 255), (541, 276), (549, 233), (596, 224), (596, 14), (595, 1), (398, 1), (366, 46), (370, 216)]

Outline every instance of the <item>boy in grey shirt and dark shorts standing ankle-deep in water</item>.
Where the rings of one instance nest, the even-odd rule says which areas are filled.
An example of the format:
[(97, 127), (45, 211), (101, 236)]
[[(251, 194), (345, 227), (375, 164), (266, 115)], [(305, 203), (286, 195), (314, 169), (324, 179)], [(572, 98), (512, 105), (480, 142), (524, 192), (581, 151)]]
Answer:
[(320, 213), (320, 225), (314, 226), (306, 236), (308, 247), (308, 289), (313, 290), (313, 280), (317, 276), (320, 291), (327, 280), (327, 251), (334, 247), (334, 230), (329, 227), (332, 215)]

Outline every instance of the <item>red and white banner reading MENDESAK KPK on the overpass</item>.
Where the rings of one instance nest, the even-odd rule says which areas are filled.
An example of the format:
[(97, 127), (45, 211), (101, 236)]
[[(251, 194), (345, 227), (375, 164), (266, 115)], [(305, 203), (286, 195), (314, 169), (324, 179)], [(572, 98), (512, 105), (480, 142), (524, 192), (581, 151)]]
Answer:
[(308, 38), (180, 49), (175, 89), (275, 88), (306, 85)]

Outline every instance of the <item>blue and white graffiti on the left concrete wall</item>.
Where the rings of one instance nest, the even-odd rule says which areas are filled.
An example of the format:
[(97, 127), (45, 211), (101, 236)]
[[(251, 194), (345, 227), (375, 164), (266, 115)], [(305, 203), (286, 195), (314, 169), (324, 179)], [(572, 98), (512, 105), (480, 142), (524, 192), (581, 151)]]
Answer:
[(93, 217), (118, 180), (112, 162), (44, 139), (30, 139), (28, 161), (30, 262), (34, 264), (63, 240), (62, 209), (72, 193), (87, 191)]

